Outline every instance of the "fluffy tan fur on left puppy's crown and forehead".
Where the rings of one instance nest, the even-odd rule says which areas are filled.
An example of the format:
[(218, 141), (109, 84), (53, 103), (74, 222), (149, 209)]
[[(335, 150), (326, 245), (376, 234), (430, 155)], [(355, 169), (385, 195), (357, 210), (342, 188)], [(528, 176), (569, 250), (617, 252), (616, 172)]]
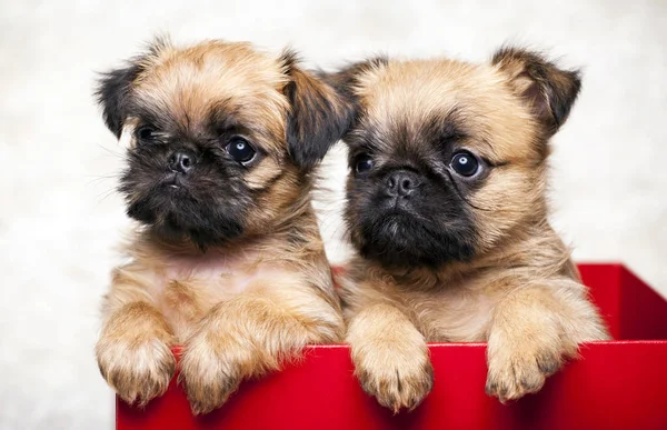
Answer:
[(188, 48), (158, 46), (143, 61), (135, 86), (140, 100), (163, 109), (189, 128), (203, 126), (212, 109), (223, 106), (238, 122), (252, 124), (262, 146), (285, 156), (277, 137), (285, 136), (289, 110), (280, 59), (245, 42), (208, 41)]

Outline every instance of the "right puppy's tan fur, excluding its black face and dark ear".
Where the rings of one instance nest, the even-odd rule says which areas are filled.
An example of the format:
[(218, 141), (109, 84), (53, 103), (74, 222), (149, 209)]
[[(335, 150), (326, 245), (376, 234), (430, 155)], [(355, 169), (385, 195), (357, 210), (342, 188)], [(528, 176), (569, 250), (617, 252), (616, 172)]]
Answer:
[(488, 341), (487, 391), (505, 401), (539, 390), (579, 343), (609, 338), (547, 222), (549, 134), (522, 98), (528, 78), (518, 63), (389, 60), (352, 69), (358, 128), (391, 133), (397, 123), (419, 127), (434, 112), (452, 112), (471, 137), (461, 147), (497, 164), (470, 199), (481, 232), (472, 261), (399, 270), (357, 256), (339, 279), (357, 374), (395, 411), (430, 391), (427, 341)]

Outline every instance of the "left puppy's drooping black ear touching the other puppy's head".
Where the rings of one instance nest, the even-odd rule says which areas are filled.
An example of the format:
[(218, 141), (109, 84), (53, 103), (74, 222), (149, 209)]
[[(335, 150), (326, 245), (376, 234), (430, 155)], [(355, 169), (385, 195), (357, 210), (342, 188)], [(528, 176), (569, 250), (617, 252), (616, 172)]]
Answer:
[(291, 158), (303, 170), (317, 166), (347, 131), (351, 107), (332, 87), (301, 70), (292, 51), (282, 54), (290, 81), (285, 93), (290, 102), (287, 143)]

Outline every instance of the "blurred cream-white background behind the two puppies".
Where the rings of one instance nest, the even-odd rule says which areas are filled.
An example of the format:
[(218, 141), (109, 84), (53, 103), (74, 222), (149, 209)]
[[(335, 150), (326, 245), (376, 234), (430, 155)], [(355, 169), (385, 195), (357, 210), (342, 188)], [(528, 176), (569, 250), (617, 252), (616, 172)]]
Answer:
[[(552, 221), (579, 261), (621, 261), (667, 294), (665, 1), (0, 0), (0, 428), (112, 427), (93, 344), (115, 246), (122, 150), (91, 96), (157, 31), (250, 40), (334, 68), (367, 54), (486, 61), (504, 42), (584, 69), (554, 139)], [(318, 207), (334, 262), (345, 151)]]

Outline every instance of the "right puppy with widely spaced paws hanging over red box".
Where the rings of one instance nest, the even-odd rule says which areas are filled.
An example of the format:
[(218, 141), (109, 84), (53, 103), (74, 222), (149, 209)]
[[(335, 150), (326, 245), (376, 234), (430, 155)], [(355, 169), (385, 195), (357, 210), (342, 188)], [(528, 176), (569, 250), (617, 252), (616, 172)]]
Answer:
[(344, 139), (357, 252), (340, 281), (368, 393), (415, 408), (434, 381), (427, 341), (487, 341), (487, 392), (518, 399), (578, 343), (608, 339), (547, 221), (549, 138), (578, 72), (505, 48), (484, 64), (376, 58), (328, 80), (356, 109)]

